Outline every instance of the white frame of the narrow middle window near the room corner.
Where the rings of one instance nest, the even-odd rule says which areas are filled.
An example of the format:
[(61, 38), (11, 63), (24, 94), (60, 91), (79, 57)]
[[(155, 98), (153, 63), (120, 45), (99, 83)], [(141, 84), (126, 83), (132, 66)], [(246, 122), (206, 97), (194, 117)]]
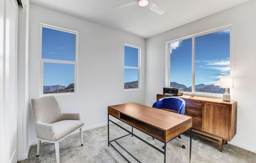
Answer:
[(124, 69), (137, 69), (138, 70), (138, 88), (124, 89), (124, 91), (141, 90), (141, 47), (127, 44), (127, 43), (125, 43), (124, 46), (133, 47), (133, 48), (138, 49), (138, 67), (124, 66)]

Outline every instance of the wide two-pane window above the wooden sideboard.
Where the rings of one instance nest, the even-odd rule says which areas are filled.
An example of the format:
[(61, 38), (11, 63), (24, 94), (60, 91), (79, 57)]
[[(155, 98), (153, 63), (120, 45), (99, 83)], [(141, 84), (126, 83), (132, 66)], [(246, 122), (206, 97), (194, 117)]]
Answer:
[(230, 26), (167, 42), (169, 87), (220, 95), (219, 78), (230, 75)]

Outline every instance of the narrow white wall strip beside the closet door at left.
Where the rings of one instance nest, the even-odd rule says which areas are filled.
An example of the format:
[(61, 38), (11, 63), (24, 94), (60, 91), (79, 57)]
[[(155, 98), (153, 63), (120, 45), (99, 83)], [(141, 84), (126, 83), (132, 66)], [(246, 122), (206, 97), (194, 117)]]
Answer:
[(29, 0), (22, 0), (18, 18), (18, 160), (26, 159), (29, 150), (28, 38)]

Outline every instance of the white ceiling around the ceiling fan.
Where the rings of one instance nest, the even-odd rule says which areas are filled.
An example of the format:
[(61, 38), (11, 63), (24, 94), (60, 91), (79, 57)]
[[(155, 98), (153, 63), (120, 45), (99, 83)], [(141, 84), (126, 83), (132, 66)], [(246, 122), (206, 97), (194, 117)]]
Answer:
[(149, 38), (249, 0), (152, 0), (166, 11), (163, 15), (139, 6), (112, 8), (130, 1), (132, 0), (30, 0), (32, 4), (142, 38)]

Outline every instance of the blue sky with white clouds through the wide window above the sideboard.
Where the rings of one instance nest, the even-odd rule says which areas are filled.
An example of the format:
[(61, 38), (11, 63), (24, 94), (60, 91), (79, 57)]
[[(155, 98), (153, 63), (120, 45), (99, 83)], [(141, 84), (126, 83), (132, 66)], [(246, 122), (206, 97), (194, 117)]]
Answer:
[[(229, 76), (229, 29), (195, 38), (195, 84), (219, 85)], [(170, 44), (170, 81), (192, 85), (192, 39)]]

